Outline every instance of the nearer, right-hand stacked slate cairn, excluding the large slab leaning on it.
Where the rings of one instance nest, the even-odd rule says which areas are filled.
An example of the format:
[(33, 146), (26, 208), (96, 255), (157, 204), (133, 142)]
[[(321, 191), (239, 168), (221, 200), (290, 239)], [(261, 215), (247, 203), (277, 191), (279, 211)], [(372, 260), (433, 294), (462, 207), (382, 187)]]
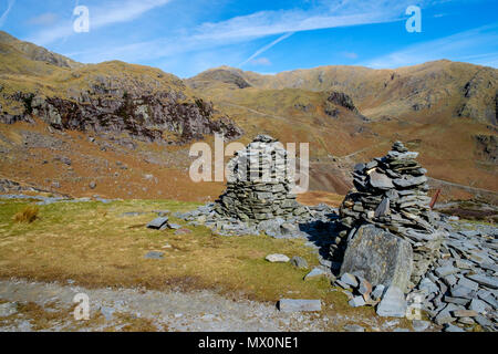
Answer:
[(331, 247), (331, 256), (342, 261), (347, 236), (372, 223), (407, 240), (413, 248), (412, 282), (418, 283), (438, 258), (442, 235), (434, 225), (437, 214), (429, 210), (427, 170), (415, 160), (416, 152), (395, 142), (384, 157), (354, 166), (354, 189), (340, 207), (344, 228)]

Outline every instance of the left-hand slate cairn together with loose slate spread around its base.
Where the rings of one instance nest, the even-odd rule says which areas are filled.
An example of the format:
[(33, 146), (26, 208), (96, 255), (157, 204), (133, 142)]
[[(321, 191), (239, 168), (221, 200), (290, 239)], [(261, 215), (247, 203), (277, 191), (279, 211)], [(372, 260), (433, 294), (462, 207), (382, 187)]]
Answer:
[(258, 135), (227, 164), (227, 189), (215, 202), (175, 216), (224, 236), (307, 238), (305, 232), (330, 233), (334, 210), (295, 200), (291, 163), (281, 143)]

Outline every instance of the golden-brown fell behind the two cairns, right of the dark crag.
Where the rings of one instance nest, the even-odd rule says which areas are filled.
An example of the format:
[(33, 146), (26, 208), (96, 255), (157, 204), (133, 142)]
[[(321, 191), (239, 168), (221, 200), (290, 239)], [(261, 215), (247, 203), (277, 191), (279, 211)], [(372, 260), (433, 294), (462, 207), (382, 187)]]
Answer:
[(346, 167), (403, 140), (421, 152), (433, 186), (497, 190), (496, 69), (440, 60), (396, 70), (321, 66), (261, 75), (221, 66), (186, 83), (249, 134), (309, 142), (313, 189), (344, 194), (352, 186)]

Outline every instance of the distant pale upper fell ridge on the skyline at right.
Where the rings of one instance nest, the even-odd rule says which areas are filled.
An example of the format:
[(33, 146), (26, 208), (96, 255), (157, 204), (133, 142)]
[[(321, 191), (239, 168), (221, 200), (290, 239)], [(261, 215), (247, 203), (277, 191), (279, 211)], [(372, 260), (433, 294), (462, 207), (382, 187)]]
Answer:
[(436, 110), (492, 125), (498, 117), (498, 71), (447, 60), (396, 70), (339, 65), (276, 75), (221, 66), (187, 80), (187, 84), (194, 88), (338, 91), (350, 95), (365, 115), (374, 118)]

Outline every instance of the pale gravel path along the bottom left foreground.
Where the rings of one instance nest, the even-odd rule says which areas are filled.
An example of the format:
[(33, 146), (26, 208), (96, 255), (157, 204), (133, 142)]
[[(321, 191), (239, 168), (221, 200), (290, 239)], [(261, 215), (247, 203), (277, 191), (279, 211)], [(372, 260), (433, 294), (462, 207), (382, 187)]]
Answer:
[[(90, 321), (74, 320), (72, 306), (77, 293), (89, 296)], [(317, 314), (282, 313), (271, 303), (235, 302), (211, 291), (91, 290), (71, 284), (3, 280), (0, 300), (35, 303), (49, 314), (63, 310), (64, 315), (46, 324), (45, 331), (120, 330), (133, 319), (151, 321), (159, 331), (324, 331), (329, 322), (323, 316), (317, 319)], [(0, 331), (33, 331), (35, 321), (40, 319), (20, 310), (0, 321)]]

